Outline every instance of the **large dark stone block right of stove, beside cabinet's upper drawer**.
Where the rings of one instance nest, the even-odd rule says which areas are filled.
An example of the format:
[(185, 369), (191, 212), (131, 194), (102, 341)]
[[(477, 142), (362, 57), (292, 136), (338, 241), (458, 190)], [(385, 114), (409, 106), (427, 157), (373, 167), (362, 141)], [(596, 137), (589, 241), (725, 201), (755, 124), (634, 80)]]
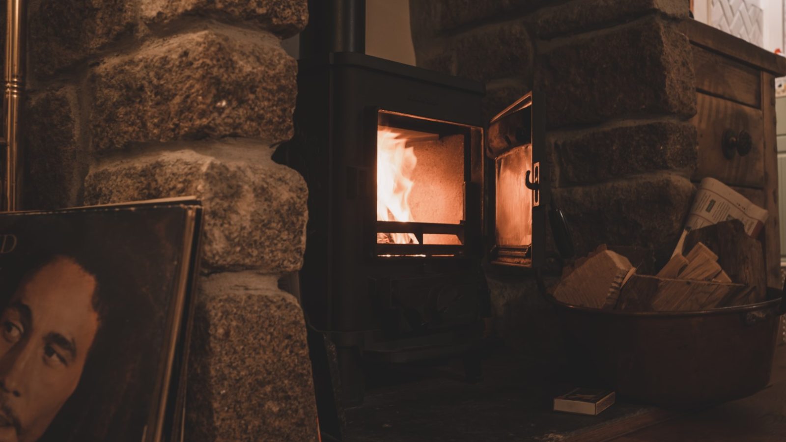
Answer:
[(649, 17), (543, 49), (535, 86), (547, 98), (549, 127), (696, 113), (692, 51), (676, 24)]

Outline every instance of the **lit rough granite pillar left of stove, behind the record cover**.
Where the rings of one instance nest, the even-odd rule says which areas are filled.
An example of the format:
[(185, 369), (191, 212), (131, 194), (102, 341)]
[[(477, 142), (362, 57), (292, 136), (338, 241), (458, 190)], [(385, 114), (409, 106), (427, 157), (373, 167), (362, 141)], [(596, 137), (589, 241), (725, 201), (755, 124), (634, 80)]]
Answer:
[(292, 136), (306, 0), (34, 0), (24, 208), (204, 202), (186, 440), (317, 438), (303, 313), (307, 188)]

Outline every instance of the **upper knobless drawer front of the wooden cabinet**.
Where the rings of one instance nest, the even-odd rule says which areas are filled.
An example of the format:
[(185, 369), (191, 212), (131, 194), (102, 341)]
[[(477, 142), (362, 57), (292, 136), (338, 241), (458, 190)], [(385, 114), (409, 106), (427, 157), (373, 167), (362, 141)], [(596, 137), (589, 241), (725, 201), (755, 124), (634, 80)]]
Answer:
[(761, 72), (700, 46), (691, 49), (697, 90), (761, 109)]

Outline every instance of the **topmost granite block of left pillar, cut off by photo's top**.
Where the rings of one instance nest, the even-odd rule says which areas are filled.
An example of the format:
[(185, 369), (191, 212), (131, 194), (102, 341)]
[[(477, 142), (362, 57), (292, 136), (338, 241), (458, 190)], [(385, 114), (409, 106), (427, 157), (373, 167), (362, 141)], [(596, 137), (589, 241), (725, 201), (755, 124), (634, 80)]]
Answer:
[(183, 16), (241, 20), (287, 39), (306, 27), (308, 5), (307, 0), (141, 0), (141, 16), (156, 24)]

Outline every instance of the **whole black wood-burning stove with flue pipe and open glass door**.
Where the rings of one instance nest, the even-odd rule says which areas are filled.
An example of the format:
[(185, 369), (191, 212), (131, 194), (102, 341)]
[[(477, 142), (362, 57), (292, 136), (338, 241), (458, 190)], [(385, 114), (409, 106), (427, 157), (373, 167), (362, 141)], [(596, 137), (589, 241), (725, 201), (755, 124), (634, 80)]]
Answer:
[(531, 94), (489, 126), (482, 84), (362, 53), (363, 15), (310, 2), (296, 134), (276, 154), (308, 183), (301, 300), (336, 344), (344, 403), (362, 400), (364, 359), (465, 355), (478, 374), (482, 260), (542, 260), (548, 191)]

